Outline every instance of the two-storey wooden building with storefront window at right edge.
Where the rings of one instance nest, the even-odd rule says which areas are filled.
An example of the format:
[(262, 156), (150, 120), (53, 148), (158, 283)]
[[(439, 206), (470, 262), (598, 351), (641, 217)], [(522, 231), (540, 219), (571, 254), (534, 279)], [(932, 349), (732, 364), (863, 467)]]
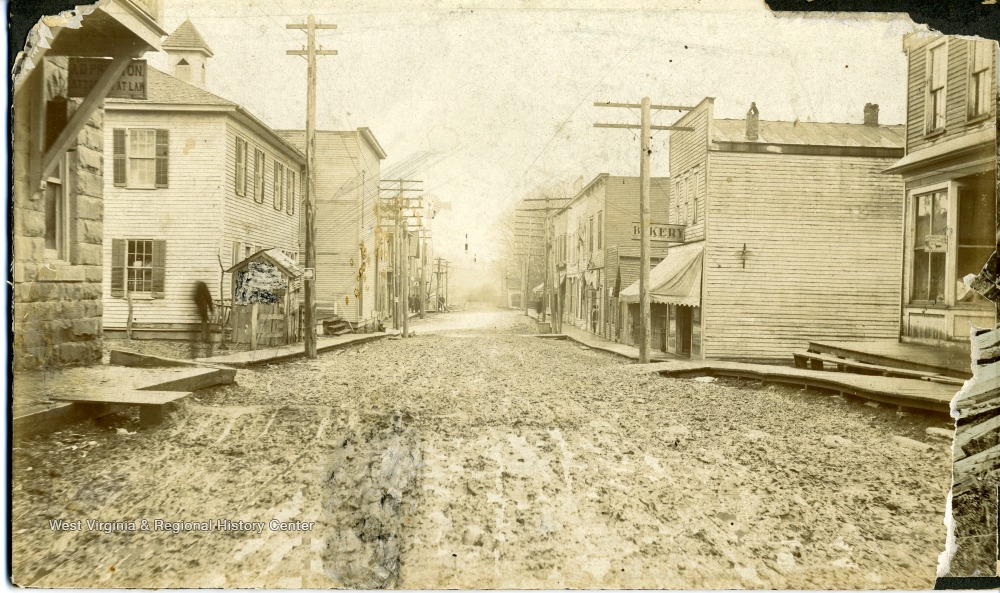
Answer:
[(903, 341), (967, 343), (993, 304), (966, 287), (996, 241), (996, 43), (910, 35)]

